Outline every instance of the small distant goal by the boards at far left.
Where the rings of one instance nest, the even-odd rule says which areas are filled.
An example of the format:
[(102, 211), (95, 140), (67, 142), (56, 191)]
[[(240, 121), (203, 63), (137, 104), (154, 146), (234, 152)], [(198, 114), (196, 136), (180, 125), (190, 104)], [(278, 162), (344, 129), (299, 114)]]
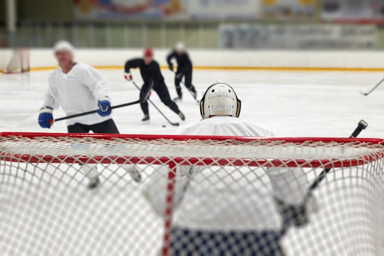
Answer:
[(11, 58), (3, 71), (4, 74), (29, 72), (30, 53), (28, 48), (16, 48), (12, 51)]

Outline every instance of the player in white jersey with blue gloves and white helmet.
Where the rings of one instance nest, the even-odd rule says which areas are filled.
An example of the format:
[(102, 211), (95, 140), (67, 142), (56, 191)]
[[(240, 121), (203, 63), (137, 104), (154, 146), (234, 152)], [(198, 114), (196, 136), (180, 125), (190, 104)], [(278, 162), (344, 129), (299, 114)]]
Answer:
[[(67, 119), (69, 133), (110, 133), (118, 134), (116, 124), (111, 117), (111, 99), (106, 91), (106, 82), (93, 67), (74, 62), (74, 48), (68, 41), (58, 41), (54, 46), (54, 55), (59, 67), (48, 78), (48, 90), (40, 109), (38, 123), (42, 128), (53, 125), (54, 109), (60, 106), (67, 116), (92, 111), (97, 113)], [(138, 171), (130, 165), (124, 168), (135, 180), (140, 180)], [(100, 183), (95, 164), (83, 164), (80, 168), (89, 179), (89, 188)]]

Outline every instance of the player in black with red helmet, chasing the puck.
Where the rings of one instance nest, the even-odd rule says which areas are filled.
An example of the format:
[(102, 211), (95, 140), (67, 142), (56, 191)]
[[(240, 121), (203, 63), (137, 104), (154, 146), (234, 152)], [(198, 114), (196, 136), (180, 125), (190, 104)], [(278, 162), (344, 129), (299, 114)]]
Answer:
[[(143, 58), (134, 58), (125, 62), (125, 79), (132, 80), (131, 69), (139, 68), (141, 77), (143, 78), (144, 84), (141, 87), (140, 98), (142, 94), (146, 92), (146, 88), (151, 86), (153, 90), (159, 95), (161, 101), (168, 106), (173, 112), (179, 115), (181, 120), (185, 120), (184, 114), (179, 110), (177, 104), (170, 99), (168, 88), (164, 83), (164, 77), (161, 75), (159, 63), (153, 59), (153, 51), (151, 48), (144, 50)], [(141, 109), (144, 113), (142, 121), (150, 120), (150, 114), (148, 112), (148, 102), (145, 101), (140, 104)]]

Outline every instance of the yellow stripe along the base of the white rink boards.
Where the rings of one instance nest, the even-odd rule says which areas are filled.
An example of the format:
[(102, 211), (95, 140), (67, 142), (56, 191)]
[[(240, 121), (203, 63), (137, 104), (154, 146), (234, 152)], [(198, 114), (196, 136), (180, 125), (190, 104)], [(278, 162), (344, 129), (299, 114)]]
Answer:
[[(123, 66), (94, 66), (101, 70), (123, 70)], [(161, 66), (161, 69), (167, 69)], [(49, 71), (56, 67), (35, 67), (31, 71)], [(212, 67), (212, 66), (194, 66), (196, 70), (253, 70), (253, 71), (317, 71), (317, 72), (384, 72), (384, 68), (323, 68), (323, 67)], [(3, 72), (3, 70), (0, 70)]]

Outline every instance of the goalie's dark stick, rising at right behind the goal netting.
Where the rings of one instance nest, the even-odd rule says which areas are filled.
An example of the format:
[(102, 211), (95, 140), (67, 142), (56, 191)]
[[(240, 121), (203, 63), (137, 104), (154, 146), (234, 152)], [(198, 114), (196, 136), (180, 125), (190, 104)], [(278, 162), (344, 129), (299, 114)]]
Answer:
[[(364, 120), (360, 120), (357, 124), (356, 129), (353, 131), (353, 133), (349, 136), (349, 138), (356, 138), (362, 130), (365, 130), (368, 126), (368, 123)], [(318, 184), (326, 177), (326, 175), (329, 173), (329, 171), (332, 168), (324, 168), (322, 172), (316, 177), (316, 179), (312, 182), (312, 184), (309, 186), (307, 193), (304, 196), (303, 205), (306, 207), (306, 204), (308, 203), (309, 199), (311, 198), (312, 191), (318, 186)], [(285, 232), (288, 230), (291, 222), (287, 219), (283, 221), (283, 227), (279, 232), (279, 237), (284, 236)]]

